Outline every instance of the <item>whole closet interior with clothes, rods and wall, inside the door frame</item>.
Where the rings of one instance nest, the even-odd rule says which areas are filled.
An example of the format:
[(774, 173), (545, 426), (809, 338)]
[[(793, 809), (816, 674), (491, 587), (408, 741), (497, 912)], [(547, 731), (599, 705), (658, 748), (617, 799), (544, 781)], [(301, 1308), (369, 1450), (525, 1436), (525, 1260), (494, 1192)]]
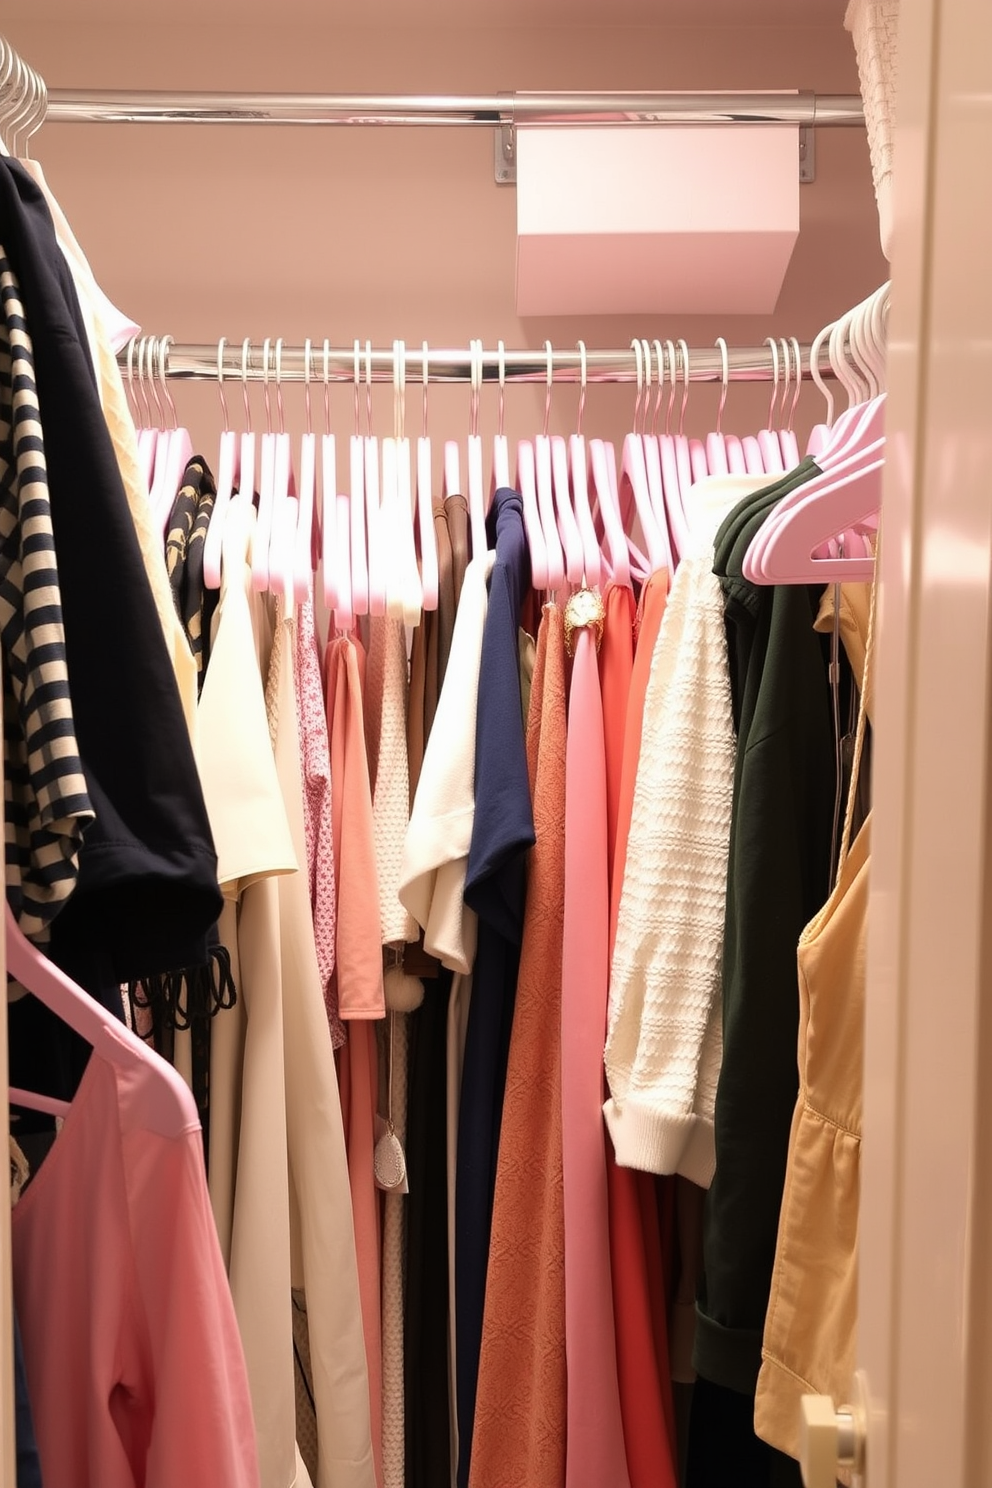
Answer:
[[(85, 9), (0, 39), (3, 1481), (799, 1488), (855, 1366), (886, 7)], [(690, 168), (531, 179), (556, 314), (526, 141), (589, 128)], [(794, 231), (717, 131), (784, 137)]]

